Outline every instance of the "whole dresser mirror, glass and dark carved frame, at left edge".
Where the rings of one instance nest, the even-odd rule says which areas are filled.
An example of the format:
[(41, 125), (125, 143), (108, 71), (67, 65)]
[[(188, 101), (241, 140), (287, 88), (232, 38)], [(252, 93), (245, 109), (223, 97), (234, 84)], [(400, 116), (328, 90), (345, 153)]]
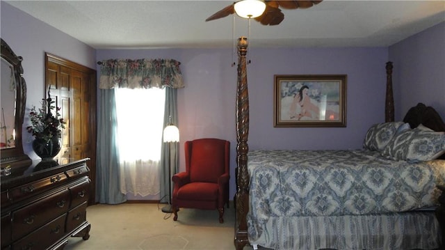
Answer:
[(26, 82), (22, 56), (1, 39), (0, 158), (4, 163), (29, 159), (22, 146), (22, 125), (26, 105)]

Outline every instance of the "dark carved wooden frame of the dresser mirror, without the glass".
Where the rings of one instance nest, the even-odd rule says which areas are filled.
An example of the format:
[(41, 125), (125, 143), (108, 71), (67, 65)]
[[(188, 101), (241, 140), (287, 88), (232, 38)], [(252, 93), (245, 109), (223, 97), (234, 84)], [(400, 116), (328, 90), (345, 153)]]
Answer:
[(26, 105), (26, 82), (23, 78), (22, 56), (17, 56), (13, 49), (1, 38), (1, 58), (13, 65), (15, 72), (16, 96), (15, 96), (15, 148), (2, 148), (0, 150), (0, 162), (9, 163), (29, 160), (25, 155), (22, 144), (23, 118)]

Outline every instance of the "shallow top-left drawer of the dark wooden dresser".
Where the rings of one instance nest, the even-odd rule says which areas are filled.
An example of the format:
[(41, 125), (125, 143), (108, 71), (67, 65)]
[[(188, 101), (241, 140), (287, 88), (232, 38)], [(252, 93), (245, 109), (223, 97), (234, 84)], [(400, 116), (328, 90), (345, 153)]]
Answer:
[(10, 189), (8, 194), (9, 199), (13, 202), (17, 202), (24, 198), (34, 196), (34, 194), (38, 194), (40, 192), (43, 192), (44, 190), (57, 187), (60, 183), (63, 183), (66, 180), (67, 175), (65, 175), (65, 173), (59, 173), (57, 175), (52, 175), (48, 178), (44, 178), (42, 180), (15, 187), (13, 189)]

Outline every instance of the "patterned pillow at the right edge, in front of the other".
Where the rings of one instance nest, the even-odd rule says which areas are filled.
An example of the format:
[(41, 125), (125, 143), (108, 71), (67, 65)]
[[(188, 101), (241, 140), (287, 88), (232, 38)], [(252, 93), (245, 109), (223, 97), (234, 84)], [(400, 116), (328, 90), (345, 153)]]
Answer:
[(396, 134), (382, 151), (390, 159), (427, 162), (445, 153), (444, 132), (414, 128)]

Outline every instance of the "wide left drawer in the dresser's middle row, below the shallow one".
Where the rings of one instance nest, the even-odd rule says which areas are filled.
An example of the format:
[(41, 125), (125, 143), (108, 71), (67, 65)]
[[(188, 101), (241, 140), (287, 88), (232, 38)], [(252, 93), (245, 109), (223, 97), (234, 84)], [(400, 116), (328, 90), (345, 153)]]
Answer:
[(67, 212), (69, 205), (70, 192), (63, 189), (13, 212), (13, 240), (18, 240), (47, 221)]

